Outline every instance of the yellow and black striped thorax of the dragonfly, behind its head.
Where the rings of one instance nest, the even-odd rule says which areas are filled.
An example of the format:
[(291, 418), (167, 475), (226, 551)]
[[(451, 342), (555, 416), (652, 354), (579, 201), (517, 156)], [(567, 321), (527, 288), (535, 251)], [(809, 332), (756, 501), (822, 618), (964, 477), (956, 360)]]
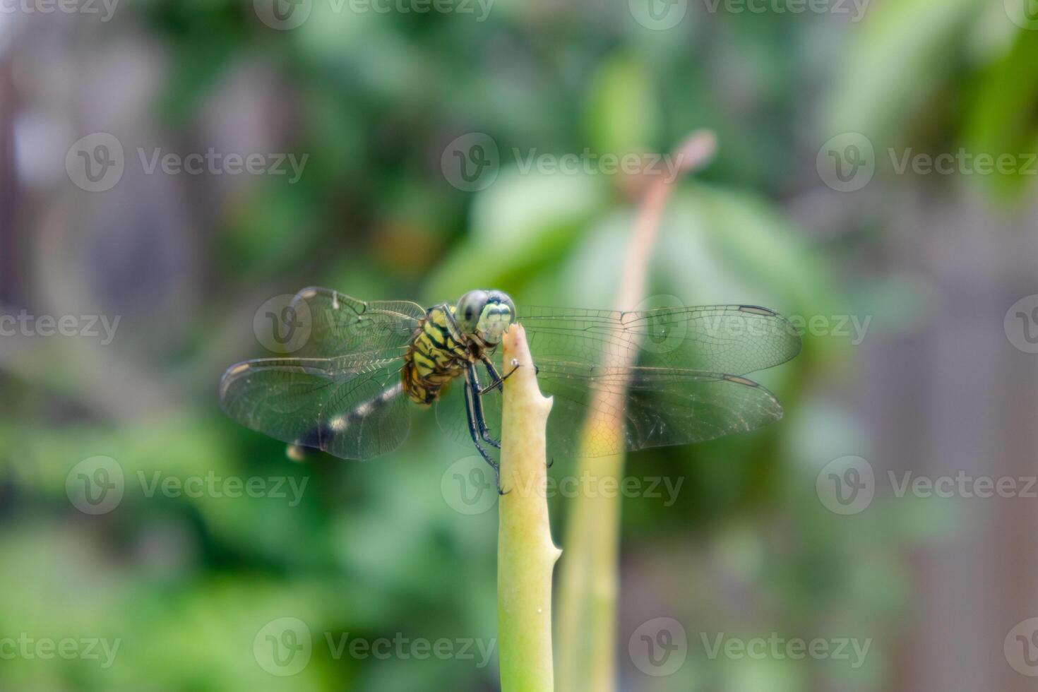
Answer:
[(405, 356), (404, 391), (417, 404), (432, 404), (448, 382), (463, 375), (469, 352), (442, 306), (431, 308)]

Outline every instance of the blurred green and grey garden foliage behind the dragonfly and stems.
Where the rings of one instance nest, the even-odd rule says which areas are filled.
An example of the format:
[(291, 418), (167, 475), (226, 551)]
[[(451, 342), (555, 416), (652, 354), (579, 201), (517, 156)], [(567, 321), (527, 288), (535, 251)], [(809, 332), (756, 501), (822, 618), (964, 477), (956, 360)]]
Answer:
[[(644, 181), (523, 162), (668, 151), (699, 128), (719, 150), (668, 205), (651, 293), (817, 328), (759, 378), (783, 421), (628, 460), (681, 486), (624, 500), (619, 688), (1032, 689), (1004, 639), (1038, 613), (1036, 501), (887, 480), (1033, 473), (1035, 356), (1007, 314), (1038, 293), (1029, 1), (3, 5), (0, 313), (119, 322), (110, 343), (0, 336), (0, 689), (497, 689), (496, 649), (480, 654), (496, 510), (455, 486), (471, 448), (426, 415), (375, 462), (294, 463), (222, 415), (219, 377), (267, 354), (265, 302), (311, 284), (611, 306)], [(97, 192), (76, 172), (91, 133), (125, 168)], [(452, 147), (472, 133), (497, 163), (468, 186)], [(298, 181), (147, 172), (156, 149), (211, 148), (306, 159)], [(959, 151), (1020, 165), (899, 170)], [(875, 498), (841, 515), (820, 479), (847, 455)], [(111, 461), (77, 466), (95, 456)], [(84, 469), (121, 474), (114, 506), (78, 508)], [(223, 492), (169, 490), (207, 478)], [(228, 496), (250, 479), (263, 492)], [(561, 536), (567, 498), (551, 504)], [(663, 616), (687, 646), (659, 675), (632, 642)], [(268, 636), (305, 634), (298, 670), (270, 658)], [(858, 666), (711, 657), (718, 635), (870, 648)], [(76, 643), (47, 657), (42, 640)]]

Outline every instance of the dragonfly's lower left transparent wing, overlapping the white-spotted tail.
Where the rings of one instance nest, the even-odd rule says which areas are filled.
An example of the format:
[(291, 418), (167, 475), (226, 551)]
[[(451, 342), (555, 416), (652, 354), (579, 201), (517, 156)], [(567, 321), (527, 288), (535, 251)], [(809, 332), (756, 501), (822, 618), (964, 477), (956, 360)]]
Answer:
[(399, 358), (269, 358), (239, 363), (220, 381), (220, 405), (239, 423), (339, 459), (372, 459), (411, 425)]

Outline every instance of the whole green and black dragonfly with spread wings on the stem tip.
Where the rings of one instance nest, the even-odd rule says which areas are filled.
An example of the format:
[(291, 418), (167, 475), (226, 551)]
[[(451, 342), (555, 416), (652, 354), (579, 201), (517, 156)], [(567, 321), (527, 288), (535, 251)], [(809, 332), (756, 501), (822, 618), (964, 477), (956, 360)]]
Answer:
[[(500, 392), (518, 367), (498, 349), (512, 324), (523, 325), (538, 384), (553, 397), (552, 458), (690, 444), (776, 421), (777, 399), (745, 376), (800, 350), (789, 321), (756, 305), (519, 311), (507, 294), (477, 289), (425, 308), (308, 287), (285, 315), (306, 337), (282, 357), (227, 368), (220, 404), (230, 418), (290, 450), (367, 460), (405, 440), (412, 411), (434, 408), (440, 427), (474, 444), (495, 472)], [(581, 439), (589, 415), (620, 434)]]

